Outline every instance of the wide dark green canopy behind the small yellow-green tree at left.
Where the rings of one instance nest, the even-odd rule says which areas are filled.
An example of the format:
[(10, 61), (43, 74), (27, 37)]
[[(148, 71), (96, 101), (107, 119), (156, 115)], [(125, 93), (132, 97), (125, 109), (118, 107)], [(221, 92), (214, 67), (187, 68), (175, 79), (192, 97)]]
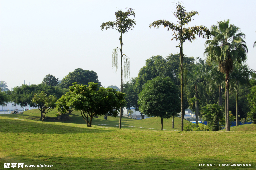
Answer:
[(28, 85), (22, 85), (17, 86), (13, 89), (13, 91), (10, 94), (10, 99), (12, 102), (19, 104), (20, 106), (27, 106), (30, 107), (37, 107), (35, 103), (32, 101), (32, 98), (35, 94), (40, 94), (42, 91), (46, 95), (53, 95), (57, 98), (60, 98), (62, 95), (67, 93), (68, 89), (61, 89), (57, 86), (47, 86), (45, 84), (31, 84)]

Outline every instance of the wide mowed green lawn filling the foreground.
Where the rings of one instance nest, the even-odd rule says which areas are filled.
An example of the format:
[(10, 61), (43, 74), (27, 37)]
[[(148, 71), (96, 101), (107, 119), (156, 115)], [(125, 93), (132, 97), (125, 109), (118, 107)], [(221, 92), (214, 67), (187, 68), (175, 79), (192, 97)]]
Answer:
[[(42, 123), (36, 118), (29, 120), (26, 119), (28, 113), (29, 117), (37, 117), (31, 111), (0, 115), (0, 169), (7, 169), (4, 163), (14, 162), (52, 164), (50, 169), (67, 170), (240, 169), (198, 168), (197, 165), (250, 162), (255, 164), (254, 168), (242, 169), (256, 169), (254, 130), (232, 132), (231, 128), (231, 132), (180, 132), (100, 125), (87, 127), (58, 121), (56, 124)], [(110, 121), (115, 122), (114, 119), (118, 118)]]

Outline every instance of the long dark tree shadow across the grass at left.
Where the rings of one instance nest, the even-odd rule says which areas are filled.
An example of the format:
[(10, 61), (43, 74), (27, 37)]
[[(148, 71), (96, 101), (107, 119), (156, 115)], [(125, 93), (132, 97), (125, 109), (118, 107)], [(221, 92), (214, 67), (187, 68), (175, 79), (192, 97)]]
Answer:
[(37, 134), (75, 134), (75, 133), (109, 133), (111, 129), (99, 129), (87, 127), (72, 127), (67, 125), (59, 125), (49, 123), (41, 123), (35, 121), (0, 119), (0, 132), (7, 133), (37, 133)]

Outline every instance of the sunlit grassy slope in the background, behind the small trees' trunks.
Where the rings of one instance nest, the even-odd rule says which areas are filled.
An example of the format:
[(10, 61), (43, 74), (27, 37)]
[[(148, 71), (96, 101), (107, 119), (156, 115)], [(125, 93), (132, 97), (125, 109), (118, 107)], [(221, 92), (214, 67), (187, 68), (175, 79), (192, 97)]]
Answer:
[[(46, 116), (57, 118), (55, 115), (57, 113), (56, 109), (53, 109), (51, 112), (47, 113)], [(18, 119), (31, 119), (31, 120), (39, 120), (41, 112), (39, 109), (32, 109), (25, 111), (24, 114), (6, 114), (3, 116), (18, 118)], [(86, 122), (83, 120), (81, 113), (78, 111), (73, 111), (70, 116), (70, 121), (57, 121), (57, 120), (48, 120), (46, 122), (62, 122), (62, 123), (77, 123), (77, 124), (85, 124)], [(104, 120), (103, 116), (99, 116), (99, 118), (94, 118), (92, 121), (93, 124), (109, 124), (109, 125), (119, 125), (119, 116), (111, 117), (108, 116), (108, 120)], [(184, 125), (189, 124), (189, 121), (184, 120)], [(122, 118), (122, 125), (124, 126), (136, 126), (136, 127), (145, 127), (145, 128), (161, 128), (161, 119), (156, 117), (151, 117), (144, 120), (135, 120), (127, 117)], [(106, 126), (106, 125), (104, 125)], [(163, 128), (168, 130), (180, 130), (180, 118), (175, 117), (174, 119), (174, 128), (172, 128), (172, 119), (164, 119)]]

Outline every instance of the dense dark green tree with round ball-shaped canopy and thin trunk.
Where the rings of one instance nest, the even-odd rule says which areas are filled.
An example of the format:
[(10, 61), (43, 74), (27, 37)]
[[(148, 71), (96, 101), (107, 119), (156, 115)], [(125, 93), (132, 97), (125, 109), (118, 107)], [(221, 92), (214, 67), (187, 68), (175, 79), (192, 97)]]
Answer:
[(180, 112), (180, 98), (177, 86), (170, 77), (156, 77), (147, 81), (139, 94), (140, 110), (148, 115), (163, 119), (170, 119)]

